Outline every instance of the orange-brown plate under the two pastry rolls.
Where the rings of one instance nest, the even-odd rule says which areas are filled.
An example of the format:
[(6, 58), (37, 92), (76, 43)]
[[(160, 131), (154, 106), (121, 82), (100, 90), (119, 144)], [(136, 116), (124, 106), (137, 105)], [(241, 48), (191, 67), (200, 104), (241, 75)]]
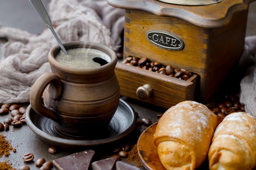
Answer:
[[(220, 123), (223, 118), (224, 117), (218, 117), (218, 123)], [(157, 146), (155, 146), (153, 140), (156, 126), (157, 123), (149, 126), (141, 133), (137, 143), (137, 152), (139, 160), (146, 169), (166, 170), (158, 157)], [(209, 170), (207, 160), (196, 170)]]

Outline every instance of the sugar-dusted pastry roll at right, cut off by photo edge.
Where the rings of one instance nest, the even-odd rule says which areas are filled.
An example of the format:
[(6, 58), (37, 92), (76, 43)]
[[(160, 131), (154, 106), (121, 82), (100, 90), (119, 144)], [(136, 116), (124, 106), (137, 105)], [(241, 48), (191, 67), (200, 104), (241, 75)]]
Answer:
[(208, 153), (210, 170), (252, 170), (256, 166), (256, 117), (227, 115), (214, 132)]

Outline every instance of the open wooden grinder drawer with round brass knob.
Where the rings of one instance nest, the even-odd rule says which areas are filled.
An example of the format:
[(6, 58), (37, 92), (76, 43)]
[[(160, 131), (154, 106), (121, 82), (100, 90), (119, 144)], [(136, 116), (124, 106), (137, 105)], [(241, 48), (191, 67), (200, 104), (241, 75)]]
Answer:
[(115, 74), (121, 95), (170, 108), (184, 100), (194, 100), (198, 75), (182, 80), (117, 62)]

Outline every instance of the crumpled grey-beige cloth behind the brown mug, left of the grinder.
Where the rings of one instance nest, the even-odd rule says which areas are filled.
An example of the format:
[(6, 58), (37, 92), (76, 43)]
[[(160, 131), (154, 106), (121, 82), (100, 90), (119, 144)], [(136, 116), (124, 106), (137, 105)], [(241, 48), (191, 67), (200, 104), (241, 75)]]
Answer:
[[(90, 41), (118, 50), (124, 9), (110, 6), (106, 0), (52, 0), (47, 7), (61, 42)], [(34, 35), (1, 24), (0, 40), (8, 40), (0, 56), (0, 103), (29, 102), (32, 85), (49, 71), (47, 54), (58, 44), (47, 28)]]

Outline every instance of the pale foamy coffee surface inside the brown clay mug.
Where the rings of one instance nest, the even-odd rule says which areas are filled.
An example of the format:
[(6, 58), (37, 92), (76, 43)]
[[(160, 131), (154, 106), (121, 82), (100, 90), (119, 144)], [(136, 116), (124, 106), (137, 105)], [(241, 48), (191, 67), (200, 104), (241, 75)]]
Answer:
[(111, 58), (108, 54), (97, 50), (97, 49), (88, 49), (88, 48), (77, 48), (77, 49), (68, 49), (68, 55), (65, 55), (61, 50), (55, 59), (66, 66), (73, 68), (98, 68), (101, 65), (97, 62), (94, 62), (95, 57), (100, 57), (107, 62), (111, 61)]

